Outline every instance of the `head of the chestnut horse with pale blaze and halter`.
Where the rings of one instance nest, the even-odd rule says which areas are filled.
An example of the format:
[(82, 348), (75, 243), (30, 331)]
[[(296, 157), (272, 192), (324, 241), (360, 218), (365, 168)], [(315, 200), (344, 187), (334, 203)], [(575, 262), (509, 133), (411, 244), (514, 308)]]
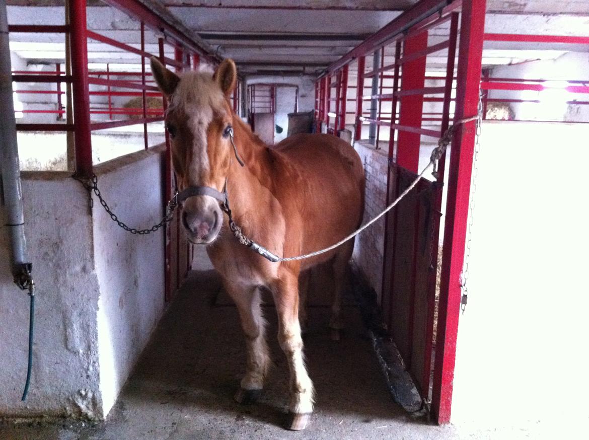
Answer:
[[(234, 62), (224, 60), (213, 75), (191, 71), (178, 76), (151, 58), (151, 71), (168, 99), (166, 129), (178, 189), (208, 187), (223, 193), (234, 154), (228, 100), (237, 81)], [(181, 203), (181, 212), (188, 240), (211, 243), (216, 239), (223, 224), (219, 200), (193, 195)]]

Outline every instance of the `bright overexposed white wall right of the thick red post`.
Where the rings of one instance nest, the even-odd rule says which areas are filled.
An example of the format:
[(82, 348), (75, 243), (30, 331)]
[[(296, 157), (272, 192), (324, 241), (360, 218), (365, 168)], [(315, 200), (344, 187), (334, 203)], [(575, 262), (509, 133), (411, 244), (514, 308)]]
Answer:
[(587, 138), (586, 124), (483, 127), (453, 424), (588, 432)]

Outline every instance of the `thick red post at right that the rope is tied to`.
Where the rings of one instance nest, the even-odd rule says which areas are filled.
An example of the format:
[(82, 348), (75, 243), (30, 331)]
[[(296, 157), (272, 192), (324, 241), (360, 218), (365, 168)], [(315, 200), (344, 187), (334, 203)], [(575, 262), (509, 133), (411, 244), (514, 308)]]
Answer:
[[(455, 120), (477, 114), (485, 6), (486, 0), (462, 4)], [(475, 121), (460, 125), (452, 139), (450, 155), (432, 395), (432, 412), (439, 424), (450, 421), (452, 406), (461, 300), (460, 274), (464, 263), (475, 132)]]

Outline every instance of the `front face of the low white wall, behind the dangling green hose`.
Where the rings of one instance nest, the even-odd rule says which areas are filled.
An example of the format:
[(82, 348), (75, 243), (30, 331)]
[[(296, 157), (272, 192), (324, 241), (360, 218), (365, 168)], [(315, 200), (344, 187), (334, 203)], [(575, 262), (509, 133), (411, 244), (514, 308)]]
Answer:
[[(65, 173), (24, 173), (29, 257), (37, 284), (31, 389), (26, 293), (12, 283), (6, 229), (0, 234), (0, 414), (102, 416), (98, 392), (98, 277), (85, 190)], [(4, 224), (4, 222), (2, 222)]]

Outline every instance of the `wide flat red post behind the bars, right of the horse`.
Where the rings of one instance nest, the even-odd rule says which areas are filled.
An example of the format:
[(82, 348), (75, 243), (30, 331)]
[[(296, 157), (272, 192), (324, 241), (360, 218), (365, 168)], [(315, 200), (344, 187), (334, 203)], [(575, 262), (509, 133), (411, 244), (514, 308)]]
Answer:
[[(403, 42), (403, 57), (422, 51), (428, 47), (428, 32), (422, 32)], [(403, 91), (421, 90), (425, 85), (425, 57), (403, 64), (401, 73), (401, 108), (399, 125), (421, 127), (423, 94), (403, 95)], [(421, 135), (399, 130), (396, 162), (399, 166), (419, 173), (419, 146)]]

